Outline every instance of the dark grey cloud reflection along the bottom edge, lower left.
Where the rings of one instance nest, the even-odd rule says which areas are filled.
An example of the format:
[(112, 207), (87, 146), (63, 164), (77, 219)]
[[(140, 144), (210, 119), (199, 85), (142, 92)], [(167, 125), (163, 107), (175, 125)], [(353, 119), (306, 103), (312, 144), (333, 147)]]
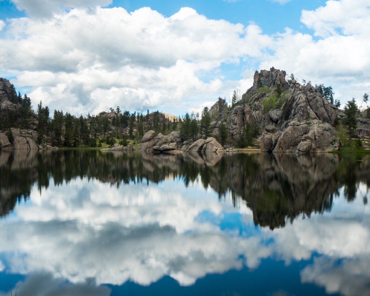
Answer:
[(54, 279), (50, 273), (31, 274), (16, 287), (18, 295), (41, 295), (40, 291), (43, 296), (109, 296), (111, 293), (108, 287), (96, 287), (93, 280), (70, 285), (61, 279)]

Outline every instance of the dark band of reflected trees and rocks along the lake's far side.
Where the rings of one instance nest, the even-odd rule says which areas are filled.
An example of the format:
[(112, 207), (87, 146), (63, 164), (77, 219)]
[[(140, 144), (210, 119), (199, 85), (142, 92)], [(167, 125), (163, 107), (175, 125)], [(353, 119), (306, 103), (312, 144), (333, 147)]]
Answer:
[(1, 151), (0, 215), (7, 215), (26, 199), (33, 184), (41, 190), (51, 180), (60, 185), (87, 177), (120, 186), (178, 178), (188, 186), (200, 179), (220, 198), (230, 194), (235, 206), (244, 200), (253, 211), (255, 224), (273, 229), (301, 213), (309, 217), (313, 212), (330, 211), (342, 185), (346, 199), (353, 201), (359, 181), (369, 187), (369, 163), (368, 156), (344, 159), (331, 154)]

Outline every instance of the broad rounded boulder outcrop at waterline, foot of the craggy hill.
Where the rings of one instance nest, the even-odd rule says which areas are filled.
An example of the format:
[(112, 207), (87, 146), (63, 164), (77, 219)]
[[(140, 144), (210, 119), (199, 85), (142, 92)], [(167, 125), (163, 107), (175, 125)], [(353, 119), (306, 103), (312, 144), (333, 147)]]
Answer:
[(292, 121), (277, 135), (265, 134), (261, 138), (263, 152), (317, 153), (333, 151), (334, 128), (322, 121), (309, 124)]

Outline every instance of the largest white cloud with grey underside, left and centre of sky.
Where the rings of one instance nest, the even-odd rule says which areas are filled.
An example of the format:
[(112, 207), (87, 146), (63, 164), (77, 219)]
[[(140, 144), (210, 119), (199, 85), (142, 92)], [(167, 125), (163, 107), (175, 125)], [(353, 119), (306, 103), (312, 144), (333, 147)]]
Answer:
[(20, 71), (13, 83), (31, 86), (33, 104), (73, 106), (63, 108), (73, 114), (89, 106), (90, 112), (115, 104), (152, 110), (215, 100), (230, 91), (215, 69), (260, 57), (271, 42), (255, 24), (209, 20), (191, 8), (171, 17), (150, 8), (73, 9), (46, 20), (12, 19), (8, 33), (13, 37), (0, 40), (0, 61), (3, 69)]

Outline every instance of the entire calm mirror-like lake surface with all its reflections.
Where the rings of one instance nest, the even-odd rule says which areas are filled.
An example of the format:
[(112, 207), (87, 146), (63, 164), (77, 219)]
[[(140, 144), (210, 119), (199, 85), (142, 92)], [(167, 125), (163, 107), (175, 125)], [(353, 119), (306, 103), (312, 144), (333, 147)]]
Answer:
[(370, 295), (369, 155), (0, 151), (0, 295)]

